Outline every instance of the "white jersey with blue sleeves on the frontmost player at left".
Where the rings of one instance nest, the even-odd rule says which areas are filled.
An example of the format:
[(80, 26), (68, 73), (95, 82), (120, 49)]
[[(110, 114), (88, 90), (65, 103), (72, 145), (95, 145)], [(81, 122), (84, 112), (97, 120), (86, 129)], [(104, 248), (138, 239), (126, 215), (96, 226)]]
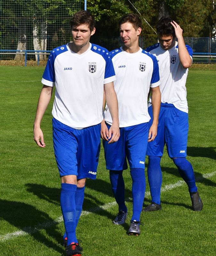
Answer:
[(77, 54), (67, 44), (52, 50), (42, 83), (56, 87), (53, 117), (82, 129), (103, 120), (103, 85), (114, 80), (107, 49), (90, 44), (86, 52)]

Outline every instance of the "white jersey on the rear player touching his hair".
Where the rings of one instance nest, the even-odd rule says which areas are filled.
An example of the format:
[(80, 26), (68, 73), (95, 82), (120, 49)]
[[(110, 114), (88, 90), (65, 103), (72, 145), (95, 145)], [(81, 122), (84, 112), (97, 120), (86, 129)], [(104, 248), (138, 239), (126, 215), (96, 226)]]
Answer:
[[(192, 59), (192, 49), (189, 45), (185, 46)], [(188, 113), (187, 91), (185, 86), (188, 68), (183, 68), (180, 63), (178, 42), (175, 42), (175, 46), (169, 50), (164, 50), (158, 43), (148, 47), (146, 51), (154, 54), (158, 60), (161, 102), (171, 103), (181, 111)], [(151, 98), (149, 105), (151, 105)]]

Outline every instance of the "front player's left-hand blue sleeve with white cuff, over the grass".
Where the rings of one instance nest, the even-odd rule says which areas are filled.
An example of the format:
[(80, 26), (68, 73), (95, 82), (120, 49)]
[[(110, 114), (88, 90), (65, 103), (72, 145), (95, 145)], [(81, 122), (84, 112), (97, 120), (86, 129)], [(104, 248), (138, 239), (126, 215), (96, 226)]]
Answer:
[(51, 52), (46, 63), (41, 83), (47, 86), (55, 86), (54, 53)]

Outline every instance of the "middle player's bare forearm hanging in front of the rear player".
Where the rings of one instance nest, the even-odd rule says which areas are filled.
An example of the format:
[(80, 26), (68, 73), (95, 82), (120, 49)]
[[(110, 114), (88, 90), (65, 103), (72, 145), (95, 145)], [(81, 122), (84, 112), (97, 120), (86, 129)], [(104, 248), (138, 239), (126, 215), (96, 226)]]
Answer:
[(158, 124), (158, 117), (161, 106), (161, 92), (159, 86), (151, 88), (151, 103), (153, 112), (153, 124)]

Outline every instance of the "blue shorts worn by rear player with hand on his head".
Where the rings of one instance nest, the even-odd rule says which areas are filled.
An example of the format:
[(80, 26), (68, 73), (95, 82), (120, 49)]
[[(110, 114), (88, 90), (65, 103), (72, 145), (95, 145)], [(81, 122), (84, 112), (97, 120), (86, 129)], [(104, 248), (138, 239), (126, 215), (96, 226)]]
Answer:
[[(152, 106), (148, 108), (151, 117), (149, 128), (152, 125)], [(173, 104), (161, 103), (157, 136), (148, 142), (148, 156), (163, 156), (166, 144), (169, 157), (186, 157), (188, 142), (188, 113), (175, 108)]]

